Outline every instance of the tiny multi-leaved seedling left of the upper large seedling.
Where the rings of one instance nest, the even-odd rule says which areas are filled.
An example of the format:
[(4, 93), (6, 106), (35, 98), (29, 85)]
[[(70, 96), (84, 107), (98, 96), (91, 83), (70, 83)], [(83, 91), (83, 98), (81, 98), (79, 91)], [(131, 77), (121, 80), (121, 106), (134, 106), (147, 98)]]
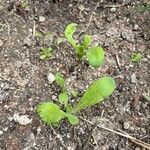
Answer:
[(52, 56), (52, 48), (41, 48), (40, 50), (40, 59), (45, 60), (49, 59)]

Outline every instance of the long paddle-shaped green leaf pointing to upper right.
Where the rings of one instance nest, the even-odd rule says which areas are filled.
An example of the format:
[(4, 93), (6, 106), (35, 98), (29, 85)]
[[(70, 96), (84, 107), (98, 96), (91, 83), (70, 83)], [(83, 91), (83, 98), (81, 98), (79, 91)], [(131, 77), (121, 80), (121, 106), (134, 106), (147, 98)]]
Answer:
[(113, 93), (115, 88), (115, 81), (111, 77), (103, 77), (94, 81), (75, 105), (73, 112), (102, 102)]

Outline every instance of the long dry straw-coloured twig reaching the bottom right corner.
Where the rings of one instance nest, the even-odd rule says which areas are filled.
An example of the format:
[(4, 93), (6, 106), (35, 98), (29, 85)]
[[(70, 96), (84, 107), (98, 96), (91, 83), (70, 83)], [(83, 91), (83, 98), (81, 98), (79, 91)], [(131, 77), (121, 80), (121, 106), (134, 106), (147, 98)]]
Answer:
[[(93, 124), (92, 122), (90, 122), (89, 120), (86, 120), (86, 119), (84, 119), (84, 118), (82, 118), (82, 117), (80, 117), (80, 118), (81, 118), (83, 121), (85, 121), (85, 122), (91, 124), (92, 126), (94, 126), (94, 124)], [(137, 144), (137, 145), (139, 145), (139, 146), (141, 146), (141, 147), (143, 147), (143, 148), (146, 148), (146, 149), (150, 150), (150, 144), (145, 143), (145, 142), (143, 142), (143, 141), (141, 141), (141, 140), (138, 140), (138, 139), (136, 139), (136, 138), (130, 136), (129, 134), (127, 134), (127, 133), (125, 133), (125, 132), (123, 132), (123, 131), (119, 132), (119, 131), (115, 131), (115, 130), (113, 130), (113, 129), (109, 129), (109, 128), (104, 127), (104, 126), (100, 126), (100, 125), (96, 125), (96, 126), (97, 126), (98, 128), (101, 128), (101, 129), (104, 129), (104, 130), (106, 130), (106, 131), (109, 131), (109, 132), (115, 133), (115, 134), (117, 134), (117, 135), (120, 135), (120, 136), (122, 136), (122, 137), (128, 138), (128, 139), (130, 139), (132, 142), (134, 142), (135, 144)]]

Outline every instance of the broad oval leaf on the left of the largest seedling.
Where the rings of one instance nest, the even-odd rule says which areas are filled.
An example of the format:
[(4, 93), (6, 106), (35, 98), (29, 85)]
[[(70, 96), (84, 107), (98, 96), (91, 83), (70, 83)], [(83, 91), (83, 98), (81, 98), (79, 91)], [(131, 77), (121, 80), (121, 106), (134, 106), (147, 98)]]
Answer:
[(47, 124), (57, 124), (66, 114), (52, 102), (43, 102), (36, 109), (40, 118)]

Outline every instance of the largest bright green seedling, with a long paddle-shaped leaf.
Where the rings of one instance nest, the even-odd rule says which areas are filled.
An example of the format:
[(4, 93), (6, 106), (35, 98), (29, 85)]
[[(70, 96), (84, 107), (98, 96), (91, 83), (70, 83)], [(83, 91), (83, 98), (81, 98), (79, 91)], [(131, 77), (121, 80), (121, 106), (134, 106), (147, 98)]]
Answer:
[(115, 87), (115, 81), (111, 77), (103, 77), (89, 86), (74, 107), (68, 105), (68, 98), (64, 94), (59, 97), (59, 102), (65, 104), (64, 111), (52, 102), (43, 102), (37, 106), (37, 112), (41, 119), (49, 125), (58, 125), (64, 118), (67, 118), (72, 125), (75, 125), (79, 123), (79, 119), (76, 116), (77, 112), (104, 101), (105, 98), (108, 98), (113, 93)]

